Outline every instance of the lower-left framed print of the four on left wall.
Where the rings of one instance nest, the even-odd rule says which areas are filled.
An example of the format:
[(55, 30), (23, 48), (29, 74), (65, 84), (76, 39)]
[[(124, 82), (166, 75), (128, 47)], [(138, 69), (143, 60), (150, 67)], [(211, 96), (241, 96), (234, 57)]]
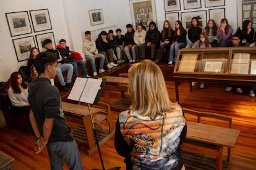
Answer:
[(30, 50), (32, 49), (32, 47), (35, 47), (35, 39), (33, 36), (12, 39), (12, 42), (14, 43), (14, 49), (18, 62), (27, 60), (30, 55)]

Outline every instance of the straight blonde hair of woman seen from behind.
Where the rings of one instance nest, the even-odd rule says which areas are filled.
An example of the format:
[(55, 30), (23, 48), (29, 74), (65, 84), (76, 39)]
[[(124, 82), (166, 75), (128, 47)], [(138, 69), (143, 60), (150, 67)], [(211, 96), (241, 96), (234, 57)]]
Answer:
[(128, 70), (131, 111), (139, 115), (156, 117), (173, 110), (163, 73), (151, 60), (135, 63)]

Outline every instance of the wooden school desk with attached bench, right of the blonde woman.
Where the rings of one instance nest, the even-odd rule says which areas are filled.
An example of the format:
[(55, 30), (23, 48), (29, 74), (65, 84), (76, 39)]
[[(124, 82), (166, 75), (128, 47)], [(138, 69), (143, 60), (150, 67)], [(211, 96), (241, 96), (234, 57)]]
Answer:
[[(184, 142), (184, 144), (181, 146), (182, 150), (186, 150), (192, 153), (200, 153), (207, 156), (213, 156), (216, 158), (215, 168), (222, 169), (223, 147), (228, 147), (228, 156), (226, 161), (228, 164), (230, 164), (231, 147), (234, 147), (237, 137), (239, 136), (239, 131), (231, 129), (232, 118), (216, 113), (195, 111), (186, 108), (184, 108), (183, 111), (185, 116), (187, 114), (197, 116), (197, 123), (187, 121), (187, 139), (186, 142)], [(228, 128), (203, 124), (206, 121), (203, 121), (202, 123), (202, 117), (227, 122)], [(198, 163), (195, 163), (194, 165), (197, 167)]]

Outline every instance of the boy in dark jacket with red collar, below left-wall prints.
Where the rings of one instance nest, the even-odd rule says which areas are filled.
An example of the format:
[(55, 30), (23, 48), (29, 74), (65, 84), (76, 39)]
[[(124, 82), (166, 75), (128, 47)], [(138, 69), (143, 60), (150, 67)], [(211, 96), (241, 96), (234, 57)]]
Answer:
[(81, 66), (83, 70), (83, 75), (85, 77), (88, 77), (88, 72), (85, 68), (85, 63), (83, 62), (83, 60), (73, 61), (75, 55), (69, 50), (69, 47), (66, 45), (65, 39), (59, 40), (59, 45), (57, 46), (57, 49), (59, 51), (59, 54), (61, 54), (62, 59), (66, 60), (67, 63), (70, 63), (73, 65), (75, 77), (79, 77), (79, 71), (77, 69), (77, 65)]

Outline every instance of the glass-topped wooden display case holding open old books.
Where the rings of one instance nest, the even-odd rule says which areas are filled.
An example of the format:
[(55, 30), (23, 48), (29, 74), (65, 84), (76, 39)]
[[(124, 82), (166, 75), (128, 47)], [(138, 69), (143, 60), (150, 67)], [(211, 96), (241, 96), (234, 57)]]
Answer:
[(176, 100), (179, 84), (192, 81), (252, 86), (256, 84), (256, 47), (181, 49), (173, 77)]

